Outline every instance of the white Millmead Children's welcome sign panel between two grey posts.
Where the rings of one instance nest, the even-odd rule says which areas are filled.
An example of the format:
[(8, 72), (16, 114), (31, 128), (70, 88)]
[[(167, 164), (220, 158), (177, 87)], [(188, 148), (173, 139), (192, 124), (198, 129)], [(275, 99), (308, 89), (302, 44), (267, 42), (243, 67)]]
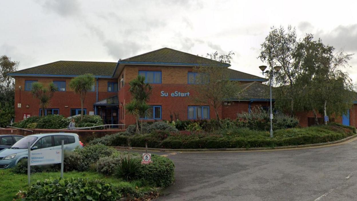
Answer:
[(61, 163), (62, 150), (34, 150), (30, 152), (30, 166)]

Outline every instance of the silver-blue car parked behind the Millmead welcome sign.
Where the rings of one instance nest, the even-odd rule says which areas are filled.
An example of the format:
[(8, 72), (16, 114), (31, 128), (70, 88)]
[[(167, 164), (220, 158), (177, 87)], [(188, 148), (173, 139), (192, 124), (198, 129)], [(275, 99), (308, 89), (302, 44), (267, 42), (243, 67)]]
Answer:
[(8, 149), (0, 151), (0, 169), (14, 167), (21, 159), (27, 158), (28, 142), (31, 150), (61, 149), (62, 140), (64, 149), (73, 151), (76, 147), (83, 147), (76, 133), (46, 133), (26, 136)]

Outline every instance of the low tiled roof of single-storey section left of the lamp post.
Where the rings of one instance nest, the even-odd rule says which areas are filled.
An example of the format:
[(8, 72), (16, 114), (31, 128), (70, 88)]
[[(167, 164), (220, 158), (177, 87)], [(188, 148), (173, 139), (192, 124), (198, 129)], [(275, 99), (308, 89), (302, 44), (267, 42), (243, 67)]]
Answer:
[[(275, 98), (275, 91), (272, 88), (272, 99)], [(259, 82), (251, 82), (241, 85), (241, 92), (231, 99), (234, 100), (251, 100), (251, 99), (270, 99), (269, 85)]]

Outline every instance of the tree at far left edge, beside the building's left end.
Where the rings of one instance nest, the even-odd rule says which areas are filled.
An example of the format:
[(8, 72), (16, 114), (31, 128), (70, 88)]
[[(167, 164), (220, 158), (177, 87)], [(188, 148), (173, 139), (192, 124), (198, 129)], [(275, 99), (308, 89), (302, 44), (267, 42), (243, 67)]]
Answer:
[(15, 117), (14, 78), (7, 75), (17, 70), (19, 62), (11, 61), (10, 57), (0, 57), (0, 124), (7, 125)]

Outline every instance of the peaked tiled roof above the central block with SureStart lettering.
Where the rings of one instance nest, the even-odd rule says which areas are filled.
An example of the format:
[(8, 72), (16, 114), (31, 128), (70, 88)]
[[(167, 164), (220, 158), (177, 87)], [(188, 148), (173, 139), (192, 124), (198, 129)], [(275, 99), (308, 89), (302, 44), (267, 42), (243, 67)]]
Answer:
[[(198, 55), (181, 52), (171, 48), (161, 48), (152, 52), (147, 52), (127, 59), (119, 60), (119, 63), (131, 62), (131, 63), (162, 63), (162, 64), (210, 64), (222, 63), (212, 59), (200, 57)], [(229, 66), (230, 64), (225, 64)]]

